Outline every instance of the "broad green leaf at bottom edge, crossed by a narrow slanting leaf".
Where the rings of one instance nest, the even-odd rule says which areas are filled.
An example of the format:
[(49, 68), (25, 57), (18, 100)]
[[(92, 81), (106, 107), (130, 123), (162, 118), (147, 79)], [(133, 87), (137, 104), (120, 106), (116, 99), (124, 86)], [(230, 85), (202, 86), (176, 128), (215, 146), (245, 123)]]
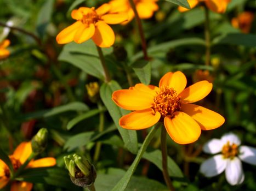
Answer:
[[(95, 180), (95, 189), (97, 191), (111, 190), (115, 186), (126, 171), (122, 169), (109, 168), (106, 172), (98, 172)], [(167, 187), (162, 183), (155, 180), (151, 180), (146, 177), (134, 176), (130, 179), (130, 182), (126, 188), (126, 191), (167, 191)]]

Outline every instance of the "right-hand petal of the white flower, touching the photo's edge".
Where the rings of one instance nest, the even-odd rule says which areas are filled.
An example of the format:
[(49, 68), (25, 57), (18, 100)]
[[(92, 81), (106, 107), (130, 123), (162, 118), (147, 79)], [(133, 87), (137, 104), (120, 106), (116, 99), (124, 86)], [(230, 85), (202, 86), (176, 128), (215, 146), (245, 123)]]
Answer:
[(239, 156), (243, 162), (256, 165), (256, 148), (240, 146)]

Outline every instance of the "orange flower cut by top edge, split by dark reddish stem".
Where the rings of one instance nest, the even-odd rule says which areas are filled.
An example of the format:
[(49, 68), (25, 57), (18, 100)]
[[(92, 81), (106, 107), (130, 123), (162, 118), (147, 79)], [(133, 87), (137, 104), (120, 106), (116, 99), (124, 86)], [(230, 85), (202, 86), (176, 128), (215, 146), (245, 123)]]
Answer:
[[(138, 11), (140, 19), (149, 19), (153, 16), (153, 13), (158, 10), (158, 0), (133, 0)], [(134, 18), (134, 12), (130, 6), (129, 0), (112, 0), (109, 2), (111, 5), (111, 13), (126, 12), (128, 13), (128, 21), (124, 21), (122, 24), (130, 22)]]

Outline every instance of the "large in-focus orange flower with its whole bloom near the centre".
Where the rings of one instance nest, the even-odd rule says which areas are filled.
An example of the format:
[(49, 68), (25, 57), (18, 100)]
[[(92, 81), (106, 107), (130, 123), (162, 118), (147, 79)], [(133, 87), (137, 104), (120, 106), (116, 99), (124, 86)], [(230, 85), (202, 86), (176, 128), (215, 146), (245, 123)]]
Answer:
[(138, 83), (129, 89), (113, 92), (112, 100), (121, 108), (133, 110), (120, 118), (125, 129), (145, 129), (163, 121), (170, 136), (178, 144), (196, 141), (202, 130), (220, 127), (224, 118), (195, 104), (212, 90), (212, 83), (200, 81), (187, 88), (181, 71), (165, 74), (159, 87)]

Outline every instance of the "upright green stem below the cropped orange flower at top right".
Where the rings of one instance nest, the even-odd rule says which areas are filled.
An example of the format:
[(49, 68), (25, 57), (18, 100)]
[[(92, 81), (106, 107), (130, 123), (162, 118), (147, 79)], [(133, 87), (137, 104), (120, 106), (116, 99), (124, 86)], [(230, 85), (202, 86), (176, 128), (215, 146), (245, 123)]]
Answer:
[(211, 62), (211, 34), (210, 34), (210, 20), (209, 20), (209, 9), (204, 7), (204, 15), (205, 15), (205, 22), (204, 22), (204, 37), (206, 40), (206, 65), (210, 65)]

